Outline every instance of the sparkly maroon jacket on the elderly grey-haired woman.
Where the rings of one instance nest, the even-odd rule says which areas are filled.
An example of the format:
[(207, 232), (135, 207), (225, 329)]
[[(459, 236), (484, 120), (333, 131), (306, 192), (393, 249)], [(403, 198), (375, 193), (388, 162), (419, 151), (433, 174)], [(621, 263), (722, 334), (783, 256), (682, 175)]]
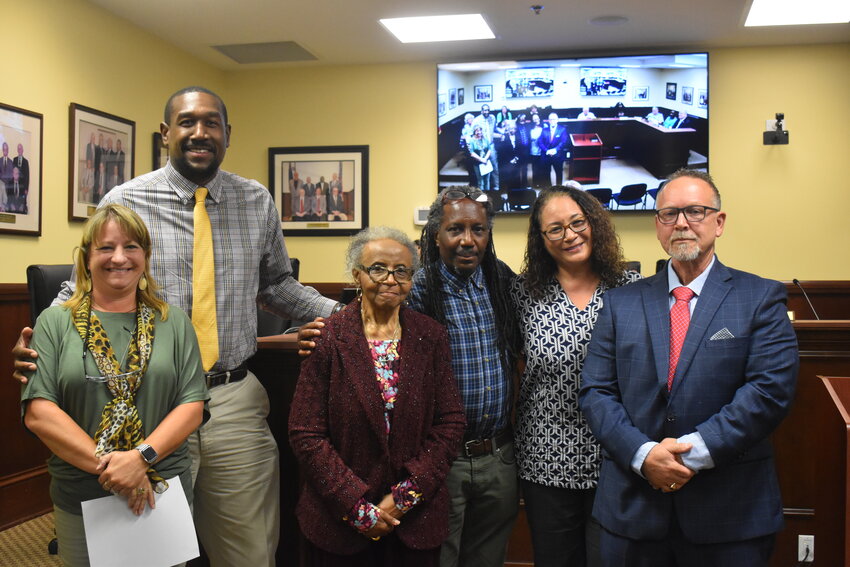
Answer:
[(445, 478), (466, 426), (448, 333), (411, 309), (402, 307), (400, 319), (389, 435), (359, 301), (325, 322), (316, 350), (301, 364), (289, 415), (289, 442), (306, 481), (298, 522), (308, 540), (331, 553), (364, 550), (369, 539), (342, 517), (361, 497), (378, 504), (410, 476), (423, 497), (394, 533), (413, 549), (432, 549), (448, 535)]

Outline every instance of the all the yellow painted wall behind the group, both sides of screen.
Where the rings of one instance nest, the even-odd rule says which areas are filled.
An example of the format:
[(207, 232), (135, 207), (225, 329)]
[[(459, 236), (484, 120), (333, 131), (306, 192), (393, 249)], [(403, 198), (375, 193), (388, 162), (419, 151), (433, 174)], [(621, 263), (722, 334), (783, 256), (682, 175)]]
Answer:
[[(7, 27), (4, 43), (26, 46), (30, 64), (21, 80), (4, 80), (0, 102), (45, 115), (43, 232), (0, 235), (0, 282), (25, 281), (30, 263), (67, 262), (79, 238), (80, 225), (67, 221), (68, 104), (135, 120), (138, 174), (150, 168), (165, 98), (188, 84), (228, 104), (226, 169), (268, 183), (270, 146), (369, 145), (371, 224), (418, 236), (413, 207), (428, 205), (437, 187), (434, 64), (221, 72), (84, 2), (16, 6), (26, 17)], [(710, 52), (710, 168), (729, 214), (721, 259), (777, 279), (850, 279), (842, 167), (850, 156), (850, 43)], [(763, 146), (764, 121), (776, 112), (787, 117), (791, 144)], [(615, 220), (626, 256), (650, 272), (663, 255), (652, 217)], [(514, 268), (526, 225), (522, 216), (496, 221), (497, 251)], [(343, 281), (346, 243), (287, 239), (305, 281)]]

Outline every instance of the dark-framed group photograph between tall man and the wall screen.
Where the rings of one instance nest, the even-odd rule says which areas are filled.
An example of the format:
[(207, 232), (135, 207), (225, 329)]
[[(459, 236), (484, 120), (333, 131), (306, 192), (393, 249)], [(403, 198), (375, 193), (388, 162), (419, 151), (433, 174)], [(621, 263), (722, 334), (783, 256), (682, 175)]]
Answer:
[(369, 146), (269, 148), (269, 189), (286, 236), (369, 226)]

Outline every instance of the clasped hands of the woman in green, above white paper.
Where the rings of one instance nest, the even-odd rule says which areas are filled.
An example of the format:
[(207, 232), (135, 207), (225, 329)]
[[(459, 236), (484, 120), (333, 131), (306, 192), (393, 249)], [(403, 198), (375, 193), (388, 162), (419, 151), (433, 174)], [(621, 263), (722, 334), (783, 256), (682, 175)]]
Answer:
[(148, 464), (135, 449), (115, 451), (100, 457), (97, 481), (104, 490), (127, 499), (127, 506), (137, 516), (145, 511), (145, 504), (156, 507), (153, 487), (148, 479)]

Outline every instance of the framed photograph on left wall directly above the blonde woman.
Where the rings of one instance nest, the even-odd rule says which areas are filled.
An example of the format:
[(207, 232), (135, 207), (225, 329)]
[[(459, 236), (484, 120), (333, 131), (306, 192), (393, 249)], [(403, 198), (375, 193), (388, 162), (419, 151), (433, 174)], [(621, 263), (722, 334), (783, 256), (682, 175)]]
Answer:
[(101, 197), (134, 176), (136, 123), (71, 103), (68, 220), (86, 220)]

